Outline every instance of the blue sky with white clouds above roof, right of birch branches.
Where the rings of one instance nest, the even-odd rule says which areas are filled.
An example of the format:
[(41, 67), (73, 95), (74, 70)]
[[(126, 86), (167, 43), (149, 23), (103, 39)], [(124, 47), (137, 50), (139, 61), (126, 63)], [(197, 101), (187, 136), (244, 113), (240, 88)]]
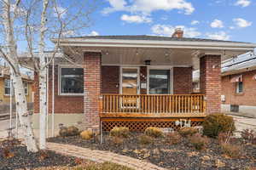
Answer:
[(256, 0), (103, 0), (87, 35), (171, 36), (256, 42)]

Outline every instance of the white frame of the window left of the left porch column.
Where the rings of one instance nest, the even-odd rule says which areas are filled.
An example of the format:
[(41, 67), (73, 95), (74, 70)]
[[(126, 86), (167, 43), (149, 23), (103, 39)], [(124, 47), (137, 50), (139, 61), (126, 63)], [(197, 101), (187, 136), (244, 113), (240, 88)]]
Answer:
[[(59, 65), (58, 66), (58, 95), (61, 96), (83, 96), (84, 93), (82, 94), (65, 94), (65, 93), (61, 93), (61, 69), (83, 69), (82, 67), (79, 66), (73, 66), (73, 65)], [(83, 88), (84, 88), (84, 83), (83, 83)]]

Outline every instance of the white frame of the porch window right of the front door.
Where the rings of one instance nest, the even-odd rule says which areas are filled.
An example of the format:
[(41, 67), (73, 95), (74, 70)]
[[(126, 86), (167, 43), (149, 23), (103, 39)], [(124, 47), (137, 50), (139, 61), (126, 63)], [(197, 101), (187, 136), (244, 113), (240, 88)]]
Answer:
[(148, 65), (147, 66), (147, 94), (149, 94), (149, 71), (150, 70), (169, 70), (170, 71), (170, 94), (173, 94), (173, 66), (154, 66)]

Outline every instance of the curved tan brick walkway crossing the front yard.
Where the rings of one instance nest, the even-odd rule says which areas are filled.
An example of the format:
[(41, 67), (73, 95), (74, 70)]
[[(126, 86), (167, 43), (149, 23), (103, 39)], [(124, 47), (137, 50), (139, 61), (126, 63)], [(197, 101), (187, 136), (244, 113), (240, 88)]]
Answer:
[(166, 170), (165, 168), (158, 167), (148, 161), (138, 160), (129, 156), (121, 156), (105, 150), (90, 150), (79, 146), (55, 143), (47, 143), (47, 149), (63, 155), (79, 157), (98, 163), (110, 161), (137, 170)]

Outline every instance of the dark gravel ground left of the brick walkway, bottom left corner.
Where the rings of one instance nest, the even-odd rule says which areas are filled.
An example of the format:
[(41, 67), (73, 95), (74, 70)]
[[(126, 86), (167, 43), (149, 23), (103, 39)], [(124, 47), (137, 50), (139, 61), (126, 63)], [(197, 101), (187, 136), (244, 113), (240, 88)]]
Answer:
[(61, 156), (53, 151), (47, 150), (47, 157), (40, 159), (39, 153), (26, 151), (26, 146), (16, 146), (11, 152), (15, 156), (11, 158), (3, 157), (3, 149), (0, 148), (0, 170), (13, 169), (33, 169), (36, 167), (52, 166), (75, 166), (75, 158), (71, 156)]

